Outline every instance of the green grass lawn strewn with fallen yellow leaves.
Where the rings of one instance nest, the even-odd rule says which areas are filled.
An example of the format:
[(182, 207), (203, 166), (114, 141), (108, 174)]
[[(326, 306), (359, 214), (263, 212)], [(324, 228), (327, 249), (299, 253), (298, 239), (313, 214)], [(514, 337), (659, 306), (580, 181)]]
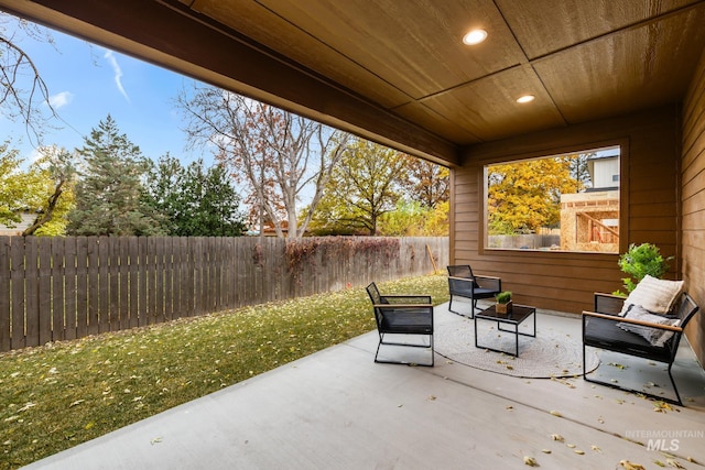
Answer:
[[(448, 299), (444, 275), (379, 284)], [(0, 469), (18, 468), (375, 329), (364, 287), (0, 354)], [(372, 357), (370, 356), (370, 361)]]

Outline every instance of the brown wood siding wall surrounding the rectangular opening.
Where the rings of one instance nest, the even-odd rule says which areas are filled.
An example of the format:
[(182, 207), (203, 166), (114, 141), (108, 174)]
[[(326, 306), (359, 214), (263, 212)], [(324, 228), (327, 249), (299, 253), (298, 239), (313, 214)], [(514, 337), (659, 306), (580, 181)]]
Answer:
[[(592, 309), (594, 292), (621, 287), (618, 254), (482, 250), (482, 167), (487, 163), (547, 156), (608, 144), (622, 145), (620, 251), (628, 243), (657, 243), (680, 256), (677, 175), (680, 107), (538, 132), (467, 150), (453, 171), (452, 263), (470, 263), (478, 274), (500, 276), (518, 303), (579, 314)], [(679, 263), (672, 264), (679, 277)]]

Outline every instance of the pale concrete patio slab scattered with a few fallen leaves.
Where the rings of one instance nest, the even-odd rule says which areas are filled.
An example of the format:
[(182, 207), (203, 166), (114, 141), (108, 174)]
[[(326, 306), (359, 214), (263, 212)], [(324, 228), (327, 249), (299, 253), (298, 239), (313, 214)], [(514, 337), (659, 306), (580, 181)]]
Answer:
[[(436, 309), (436, 321), (457, 318)], [(576, 318), (540, 313), (542, 328), (579, 341)], [(435, 368), (376, 364), (376, 332), (354, 338), (26, 468), (525, 469), (524, 457), (563, 470), (705, 463), (705, 375), (687, 345), (674, 365), (686, 406), (661, 411), (581, 378), (518, 379), (440, 356)], [(638, 368), (625, 373), (644, 380)]]

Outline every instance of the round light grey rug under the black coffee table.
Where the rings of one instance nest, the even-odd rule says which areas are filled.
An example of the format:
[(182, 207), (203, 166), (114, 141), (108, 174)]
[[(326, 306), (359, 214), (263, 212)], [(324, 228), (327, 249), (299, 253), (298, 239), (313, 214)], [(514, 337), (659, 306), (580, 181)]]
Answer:
[[(530, 321), (530, 320), (529, 320)], [(509, 325), (502, 325), (508, 329)], [(524, 325), (520, 326), (522, 331)], [(438, 325), (434, 332), (435, 351), (454, 362), (484, 371), (530, 379), (571, 378), (583, 373), (581, 338), (552, 330), (536, 331), (536, 337), (519, 337), (519, 357), (484, 349), (489, 346), (502, 351), (514, 350), (514, 335), (497, 330), (497, 324), (478, 321), (480, 348), (475, 347), (474, 321), (464, 319)], [(597, 369), (599, 358), (586, 353), (586, 370)]]

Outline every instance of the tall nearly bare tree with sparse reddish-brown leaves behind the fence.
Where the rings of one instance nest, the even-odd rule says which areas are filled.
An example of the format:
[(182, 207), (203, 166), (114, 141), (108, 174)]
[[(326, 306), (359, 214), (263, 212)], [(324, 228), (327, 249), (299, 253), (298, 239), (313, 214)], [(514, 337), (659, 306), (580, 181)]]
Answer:
[[(348, 134), (282, 109), (209, 86), (177, 99), (192, 144), (214, 145), (216, 157), (247, 192), (250, 220), (271, 221), (280, 238), (306, 231)], [(313, 189), (299, 217), (302, 196)]]

